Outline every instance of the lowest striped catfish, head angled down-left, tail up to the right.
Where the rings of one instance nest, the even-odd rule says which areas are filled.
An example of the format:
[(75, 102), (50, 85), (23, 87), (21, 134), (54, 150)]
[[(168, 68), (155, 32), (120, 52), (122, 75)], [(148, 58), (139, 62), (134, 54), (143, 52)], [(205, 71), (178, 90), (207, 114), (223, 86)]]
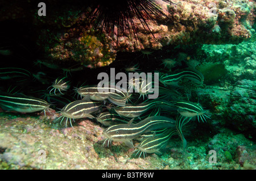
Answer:
[[(154, 132), (153, 136), (148, 137), (139, 143), (137, 146), (137, 154), (141, 151), (141, 154), (143, 153), (144, 158), (146, 153), (162, 154), (160, 150), (166, 147), (168, 141), (174, 134), (177, 134), (177, 131), (174, 128), (164, 129), (163, 132), (158, 134)], [(139, 157), (141, 157), (141, 154), (139, 154)]]

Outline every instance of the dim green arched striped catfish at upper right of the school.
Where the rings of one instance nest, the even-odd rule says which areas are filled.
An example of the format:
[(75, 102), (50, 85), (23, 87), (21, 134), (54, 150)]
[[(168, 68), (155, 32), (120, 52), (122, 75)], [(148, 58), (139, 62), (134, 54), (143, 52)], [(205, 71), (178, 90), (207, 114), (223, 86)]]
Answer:
[(159, 78), (159, 81), (164, 85), (177, 85), (183, 78), (191, 80), (196, 86), (201, 86), (204, 82), (204, 75), (196, 69), (183, 69), (173, 74), (166, 73)]

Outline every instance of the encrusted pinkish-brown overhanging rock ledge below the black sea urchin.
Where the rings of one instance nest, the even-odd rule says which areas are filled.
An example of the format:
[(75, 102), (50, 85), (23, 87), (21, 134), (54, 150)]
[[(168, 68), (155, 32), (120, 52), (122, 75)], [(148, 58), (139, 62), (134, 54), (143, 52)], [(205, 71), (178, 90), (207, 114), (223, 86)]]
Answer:
[[(77, 13), (74, 8), (68, 11), (68, 15), (53, 15), (47, 19), (37, 16), (38, 24), (56, 24), (52, 31), (42, 30), (38, 44), (45, 47), (52, 64), (78, 63), (96, 68), (109, 65), (115, 60), (117, 52), (156, 50), (179, 44), (240, 43), (250, 39), (251, 26), (256, 17), (256, 3), (246, 0), (173, 0), (171, 3), (158, 0), (155, 3), (166, 16), (142, 14), (146, 26), (134, 15), (134, 28), (130, 24), (122, 32), (117, 27), (106, 32), (94, 27), (93, 23), (88, 24), (86, 17), (89, 10)], [(49, 39), (45, 40), (45, 37)]]

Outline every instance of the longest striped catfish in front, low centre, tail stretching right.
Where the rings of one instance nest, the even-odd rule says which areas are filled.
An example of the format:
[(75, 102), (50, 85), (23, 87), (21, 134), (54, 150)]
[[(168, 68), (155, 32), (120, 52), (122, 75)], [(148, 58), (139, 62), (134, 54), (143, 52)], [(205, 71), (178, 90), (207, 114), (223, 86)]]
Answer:
[(111, 144), (112, 141), (121, 141), (125, 142), (130, 148), (133, 148), (132, 140), (141, 134), (157, 129), (175, 127), (175, 120), (164, 116), (151, 116), (137, 124), (132, 123), (133, 119), (128, 124), (118, 124), (106, 128), (103, 132), (106, 136), (106, 140), (103, 144), (105, 144), (107, 140), (108, 146), (109, 142)]

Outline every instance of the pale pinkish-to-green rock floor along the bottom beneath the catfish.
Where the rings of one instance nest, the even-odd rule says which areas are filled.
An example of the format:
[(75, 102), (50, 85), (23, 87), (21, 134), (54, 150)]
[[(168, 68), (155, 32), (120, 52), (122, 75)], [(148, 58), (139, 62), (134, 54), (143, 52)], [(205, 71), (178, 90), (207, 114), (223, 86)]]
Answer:
[[(0, 169), (255, 169), (255, 144), (228, 129), (212, 138), (188, 138), (185, 151), (174, 137), (162, 155), (146, 158), (135, 157), (134, 149), (120, 142), (103, 146), (102, 130), (90, 120), (63, 128), (43, 115), (1, 112)], [(209, 163), (209, 150), (217, 151), (217, 163)], [(226, 159), (226, 150), (232, 161)]]

